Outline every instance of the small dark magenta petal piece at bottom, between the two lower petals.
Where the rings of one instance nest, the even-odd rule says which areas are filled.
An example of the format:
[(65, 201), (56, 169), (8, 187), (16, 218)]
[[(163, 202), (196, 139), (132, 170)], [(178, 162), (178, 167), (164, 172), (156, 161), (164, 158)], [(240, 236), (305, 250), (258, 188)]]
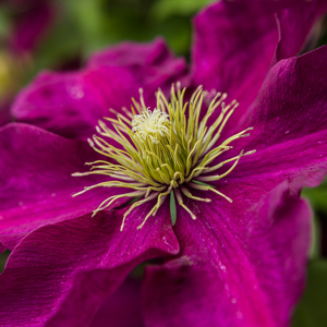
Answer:
[(142, 327), (141, 281), (128, 278), (102, 304), (89, 327)]

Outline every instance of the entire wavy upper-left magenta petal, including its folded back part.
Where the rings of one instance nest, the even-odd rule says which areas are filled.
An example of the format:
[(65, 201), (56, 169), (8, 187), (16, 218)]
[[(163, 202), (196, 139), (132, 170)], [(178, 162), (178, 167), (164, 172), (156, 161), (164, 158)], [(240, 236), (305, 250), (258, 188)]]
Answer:
[(64, 137), (86, 140), (99, 119), (113, 116), (109, 109), (130, 108), (140, 88), (153, 108), (155, 90), (167, 92), (179, 80), (185, 84), (185, 74), (184, 60), (175, 59), (161, 39), (122, 44), (95, 55), (81, 71), (39, 74), (17, 96), (12, 114)]

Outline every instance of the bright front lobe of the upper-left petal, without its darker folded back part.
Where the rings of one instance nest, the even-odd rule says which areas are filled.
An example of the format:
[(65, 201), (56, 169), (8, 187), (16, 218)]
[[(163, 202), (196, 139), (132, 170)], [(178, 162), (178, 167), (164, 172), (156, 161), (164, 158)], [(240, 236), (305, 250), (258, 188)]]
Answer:
[(130, 107), (141, 85), (123, 68), (39, 74), (17, 96), (12, 114), (68, 138), (86, 140), (110, 108)]

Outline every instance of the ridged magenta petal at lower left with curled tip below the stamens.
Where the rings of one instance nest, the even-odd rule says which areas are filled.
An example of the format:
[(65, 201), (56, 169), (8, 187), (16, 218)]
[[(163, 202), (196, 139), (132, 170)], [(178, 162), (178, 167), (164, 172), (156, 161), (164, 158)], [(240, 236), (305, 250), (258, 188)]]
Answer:
[[(92, 317), (138, 263), (179, 252), (169, 216), (136, 227), (136, 209), (120, 232), (122, 213), (100, 213), (28, 234), (0, 276), (1, 326), (88, 326)], [(14, 313), (14, 314), (13, 314)]]

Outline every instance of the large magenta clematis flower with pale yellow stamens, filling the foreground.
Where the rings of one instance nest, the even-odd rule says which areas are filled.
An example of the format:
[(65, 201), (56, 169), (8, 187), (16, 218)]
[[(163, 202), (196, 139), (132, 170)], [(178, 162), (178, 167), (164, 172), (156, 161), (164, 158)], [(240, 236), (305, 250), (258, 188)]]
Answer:
[[(219, 2), (195, 19), (191, 74), (158, 39), (105, 50), (82, 71), (43, 73), (27, 86), (12, 111), (21, 123), (0, 130), (0, 242), (13, 250), (0, 276), (1, 324), (87, 326), (133, 267), (165, 257), (164, 265), (145, 272), (145, 326), (288, 326), (303, 290), (310, 245), (311, 210), (299, 194), (303, 186), (317, 185), (327, 169), (327, 47), (290, 57), (301, 50), (323, 9), (319, 1)], [(189, 95), (190, 106), (179, 92), (168, 102), (178, 81), (195, 94)], [(121, 108), (130, 108), (140, 87), (136, 111), (131, 116)], [(233, 111), (234, 98), (240, 106)], [(95, 138), (97, 154), (85, 140), (102, 117), (113, 126), (100, 123), (98, 132), (109, 138)], [(128, 124), (131, 132), (124, 136)], [(217, 140), (204, 133), (214, 126)], [(239, 137), (249, 128), (251, 135)], [(129, 145), (133, 140), (138, 140), (135, 148)], [(219, 153), (211, 153), (210, 166), (199, 161), (209, 154), (207, 141), (214, 155)], [(158, 144), (179, 144), (171, 147), (172, 162), (162, 161)], [(233, 148), (222, 153), (221, 146)], [(135, 154), (134, 171), (118, 155), (126, 149)], [(240, 158), (242, 149), (256, 153)], [(146, 152), (158, 157), (146, 161), (157, 171), (146, 185), (150, 180), (161, 190), (132, 187), (144, 199), (159, 193), (129, 213), (120, 195), (134, 183), (130, 179), (145, 181), (152, 167), (142, 165), (140, 154)], [(100, 173), (89, 173), (84, 162), (99, 162), (104, 155), (105, 167), (93, 170)], [(184, 181), (164, 167), (161, 177), (159, 159), (170, 169), (184, 168)], [(220, 164), (216, 178), (208, 180), (204, 170), (186, 181), (193, 168)], [(126, 183), (92, 187), (118, 179), (111, 165), (119, 177), (130, 169)], [(71, 175), (75, 172), (80, 177)], [(92, 190), (72, 197), (85, 186)], [(171, 210), (172, 190), (179, 195)], [(106, 207), (108, 198), (114, 202)]]

